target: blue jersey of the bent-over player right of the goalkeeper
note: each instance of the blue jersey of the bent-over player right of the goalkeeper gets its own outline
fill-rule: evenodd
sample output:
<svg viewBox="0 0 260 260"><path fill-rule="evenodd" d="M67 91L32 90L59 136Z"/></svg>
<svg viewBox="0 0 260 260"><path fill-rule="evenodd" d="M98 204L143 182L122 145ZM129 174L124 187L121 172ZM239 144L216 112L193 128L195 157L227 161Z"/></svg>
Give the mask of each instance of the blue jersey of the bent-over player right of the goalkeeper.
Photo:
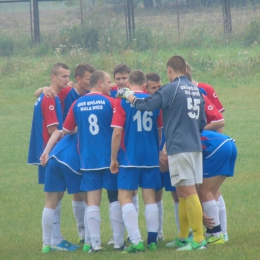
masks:
<svg viewBox="0 0 260 260"><path fill-rule="evenodd" d="M203 160L214 155L223 144L230 141L234 142L234 140L229 136L213 131L203 130L201 133Z"/></svg>

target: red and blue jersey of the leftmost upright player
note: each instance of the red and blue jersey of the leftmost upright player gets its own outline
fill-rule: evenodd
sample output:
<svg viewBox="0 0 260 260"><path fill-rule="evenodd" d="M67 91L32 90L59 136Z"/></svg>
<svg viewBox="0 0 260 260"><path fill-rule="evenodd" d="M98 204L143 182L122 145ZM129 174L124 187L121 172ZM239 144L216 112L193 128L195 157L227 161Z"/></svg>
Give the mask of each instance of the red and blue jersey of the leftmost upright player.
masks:
<svg viewBox="0 0 260 260"><path fill-rule="evenodd" d="M62 129L62 108L59 97L46 98L44 94L36 100L28 152L28 164L40 164L40 156L50 138L48 127L56 125Z"/></svg>

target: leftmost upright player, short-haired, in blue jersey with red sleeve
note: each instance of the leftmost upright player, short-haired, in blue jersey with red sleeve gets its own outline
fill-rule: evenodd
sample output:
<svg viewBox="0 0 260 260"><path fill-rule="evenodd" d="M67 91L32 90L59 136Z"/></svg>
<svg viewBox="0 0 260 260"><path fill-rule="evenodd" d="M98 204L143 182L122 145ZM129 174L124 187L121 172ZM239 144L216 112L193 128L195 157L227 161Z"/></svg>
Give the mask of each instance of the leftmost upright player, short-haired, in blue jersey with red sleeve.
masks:
<svg viewBox="0 0 260 260"><path fill-rule="evenodd" d="M59 93L69 81L69 67L63 63L56 63L51 70L50 89ZM28 163L38 165L38 182L44 184L46 168L40 165L40 156L52 133L62 129L62 107L58 96L47 98L41 94L34 107L33 123L28 153ZM52 233L52 244L63 247L64 239L60 234L59 226L60 205L55 209L55 223ZM57 221L56 221L57 220ZM69 248L69 247L67 247Z"/></svg>

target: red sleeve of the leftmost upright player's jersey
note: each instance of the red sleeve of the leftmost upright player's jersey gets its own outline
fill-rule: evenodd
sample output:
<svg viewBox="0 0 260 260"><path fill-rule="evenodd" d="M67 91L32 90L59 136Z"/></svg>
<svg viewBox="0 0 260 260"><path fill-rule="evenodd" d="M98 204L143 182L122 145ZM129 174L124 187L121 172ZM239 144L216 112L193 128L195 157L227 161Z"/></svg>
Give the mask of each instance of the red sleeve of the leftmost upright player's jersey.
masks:
<svg viewBox="0 0 260 260"><path fill-rule="evenodd" d="M44 125L46 127L59 124L59 120L56 115L56 102L54 98L46 98L45 96L43 97L42 115L44 119Z"/></svg>

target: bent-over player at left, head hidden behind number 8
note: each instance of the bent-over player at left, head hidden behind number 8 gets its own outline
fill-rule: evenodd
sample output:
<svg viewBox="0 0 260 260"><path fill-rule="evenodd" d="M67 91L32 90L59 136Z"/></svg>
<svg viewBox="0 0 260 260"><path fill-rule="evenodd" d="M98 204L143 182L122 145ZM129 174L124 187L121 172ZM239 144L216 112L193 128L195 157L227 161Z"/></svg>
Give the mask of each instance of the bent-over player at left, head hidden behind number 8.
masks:
<svg viewBox="0 0 260 260"><path fill-rule="evenodd" d="M53 250L75 251L77 248L69 245L68 242L63 243L63 247L59 245L55 246L51 243L55 208L59 203L60 193L63 193L67 189L68 194L79 194L82 179L77 151L78 135L66 135L62 137L62 130L55 130L40 157L41 165L45 166L48 161L44 185L46 201L42 213L43 253L49 253ZM53 148L54 145L55 147ZM51 151L52 148L53 150ZM81 193L81 196L84 198L86 194ZM86 236L84 233L84 239L89 240L87 230Z"/></svg>

